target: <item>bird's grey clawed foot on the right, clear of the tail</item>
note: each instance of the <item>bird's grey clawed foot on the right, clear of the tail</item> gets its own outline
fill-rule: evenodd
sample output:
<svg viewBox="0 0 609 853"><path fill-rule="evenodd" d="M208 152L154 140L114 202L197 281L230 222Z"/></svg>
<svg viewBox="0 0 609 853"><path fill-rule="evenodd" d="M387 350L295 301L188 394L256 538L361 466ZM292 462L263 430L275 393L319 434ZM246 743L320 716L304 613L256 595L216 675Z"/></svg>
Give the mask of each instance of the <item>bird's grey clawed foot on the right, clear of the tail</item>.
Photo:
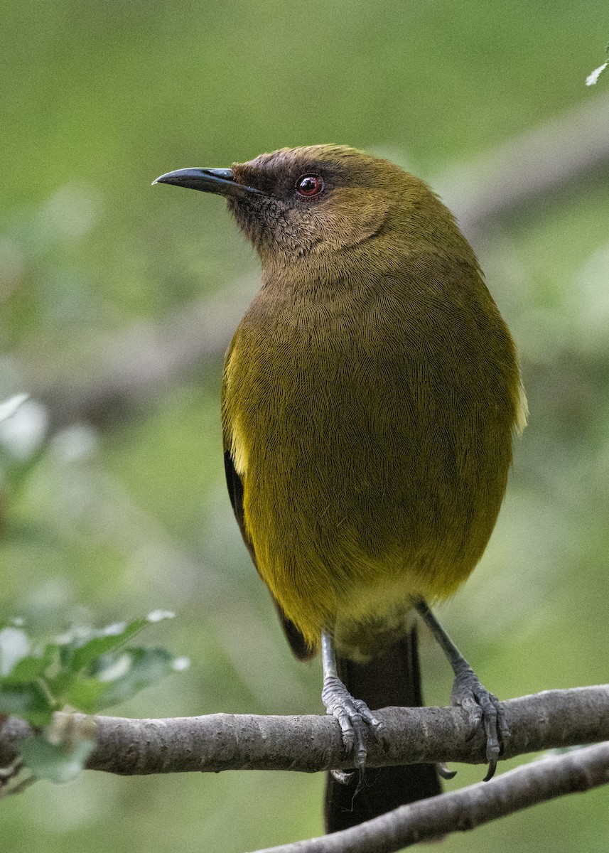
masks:
<svg viewBox="0 0 609 853"><path fill-rule="evenodd" d="M502 745L505 745L509 738L509 728L501 702L484 687L465 660L455 669L452 704L459 705L468 712L472 724L470 736L478 731L480 725L484 726L486 758L489 762L484 781L488 782L495 775Z"/></svg>

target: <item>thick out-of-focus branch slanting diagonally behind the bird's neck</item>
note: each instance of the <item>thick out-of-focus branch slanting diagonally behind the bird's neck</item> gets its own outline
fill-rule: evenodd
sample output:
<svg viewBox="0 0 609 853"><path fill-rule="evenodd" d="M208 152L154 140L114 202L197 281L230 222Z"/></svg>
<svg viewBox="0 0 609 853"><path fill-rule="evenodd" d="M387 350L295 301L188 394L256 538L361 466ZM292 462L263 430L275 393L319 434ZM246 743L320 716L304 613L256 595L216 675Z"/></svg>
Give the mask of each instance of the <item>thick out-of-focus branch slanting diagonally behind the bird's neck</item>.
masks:
<svg viewBox="0 0 609 853"><path fill-rule="evenodd" d="M526 131L490 154L454 168L434 187L467 235L490 220L555 193L609 163L609 96L596 96L559 118ZM75 421L103 426L156 397L177 378L220 358L248 302L235 288L223 302L200 300L157 325L114 336L83 379L26 373L26 390L49 407L51 426ZM52 370L52 366L51 366Z"/></svg>

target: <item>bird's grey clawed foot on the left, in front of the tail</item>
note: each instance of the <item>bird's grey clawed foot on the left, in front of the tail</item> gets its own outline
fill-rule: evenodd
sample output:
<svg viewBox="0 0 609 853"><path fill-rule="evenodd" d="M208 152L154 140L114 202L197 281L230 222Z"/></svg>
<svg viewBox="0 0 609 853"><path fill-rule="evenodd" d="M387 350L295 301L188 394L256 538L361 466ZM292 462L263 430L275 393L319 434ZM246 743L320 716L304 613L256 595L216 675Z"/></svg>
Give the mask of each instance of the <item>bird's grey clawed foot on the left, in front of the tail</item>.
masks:
<svg viewBox="0 0 609 853"><path fill-rule="evenodd" d="M380 734L384 723L377 720L362 699L354 699L338 676L326 676L323 680L322 702L326 711L339 721L340 734L348 755L353 753L355 766L362 777L366 765L367 729L374 735Z"/></svg>

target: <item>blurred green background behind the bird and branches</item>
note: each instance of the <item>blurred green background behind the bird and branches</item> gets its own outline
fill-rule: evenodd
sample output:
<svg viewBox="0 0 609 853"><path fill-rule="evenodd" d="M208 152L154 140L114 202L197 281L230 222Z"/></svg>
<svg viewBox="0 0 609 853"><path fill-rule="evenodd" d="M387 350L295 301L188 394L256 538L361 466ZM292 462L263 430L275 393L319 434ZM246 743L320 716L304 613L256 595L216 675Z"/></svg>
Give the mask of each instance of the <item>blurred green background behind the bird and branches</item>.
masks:
<svg viewBox="0 0 609 853"><path fill-rule="evenodd" d="M319 663L291 659L223 484L222 351L257 261L221 200L150 182L344 142L462 213L489 177L480 157L500 150L501 164L504 143L578 105L609 110L609 79L584 86L609 7L5 0L2 22L0 399L32 402L0 433L0 617L52 631L175 610L148 641L192 668L117 714L320 712ZM558 183L468 231L519 344L531 421L490 547L440 615L503 698L607 680L609 156ZM448 668L428 638L422 653L426 698L445 704ZM240 853L320 833L322 785L85 773L4 800L0 850ZM443 850L607 844L600 789Z"/></svg>

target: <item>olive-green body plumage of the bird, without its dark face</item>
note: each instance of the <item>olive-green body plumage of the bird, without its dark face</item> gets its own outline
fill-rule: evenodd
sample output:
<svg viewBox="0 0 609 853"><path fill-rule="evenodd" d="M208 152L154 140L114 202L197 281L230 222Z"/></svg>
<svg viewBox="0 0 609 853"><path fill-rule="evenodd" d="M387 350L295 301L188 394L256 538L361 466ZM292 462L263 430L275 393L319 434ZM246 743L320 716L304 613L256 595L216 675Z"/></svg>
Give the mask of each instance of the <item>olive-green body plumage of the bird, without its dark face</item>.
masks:
<svg viewBox="0 0 609 853"><path fill-rule="evenodd" d="M344 199L332 266L323 250L278 265L263 244L223 389L258 571L311 647L328 630L354 659L404 633L414 596L450 595L472 571L523 416L471 248L424 183L386 166L390 191ZM380 221L354 242L354 217Z"/></svg>

